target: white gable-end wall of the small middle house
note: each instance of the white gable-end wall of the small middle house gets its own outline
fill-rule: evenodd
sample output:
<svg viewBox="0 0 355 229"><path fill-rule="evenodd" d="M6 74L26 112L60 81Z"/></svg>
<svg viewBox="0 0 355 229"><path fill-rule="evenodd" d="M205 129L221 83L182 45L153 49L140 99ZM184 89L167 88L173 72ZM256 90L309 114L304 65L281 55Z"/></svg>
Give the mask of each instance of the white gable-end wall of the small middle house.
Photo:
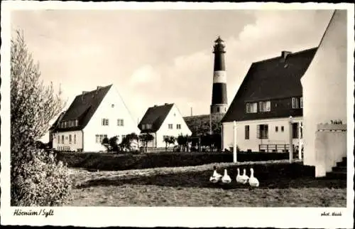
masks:
<svg viewBox="0 0 355 229"><path fill-rule="evenodd" d="M169 129L168 124L173 124L173 129ZM181 129L177 129L177 124L181 124ZM168 135L178 137L180 134L191 135L192 132L189 127L187 127L178 107L173 105L160 129L156 132L156 147L165 147L163 136Z"/></svg>

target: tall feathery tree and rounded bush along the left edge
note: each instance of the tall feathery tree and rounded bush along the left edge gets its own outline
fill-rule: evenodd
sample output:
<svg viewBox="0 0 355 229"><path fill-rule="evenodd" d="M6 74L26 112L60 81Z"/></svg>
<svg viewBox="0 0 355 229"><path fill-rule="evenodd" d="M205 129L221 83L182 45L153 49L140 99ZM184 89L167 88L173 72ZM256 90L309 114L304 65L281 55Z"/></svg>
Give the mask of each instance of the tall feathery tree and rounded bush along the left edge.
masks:
<svg viewBox="0 0 355 229"><path fill-rule="evenodd" d="M60 92L43 85L17 31L11 39L11 206L60 206L70 195L67 166L35 144L64 106Z"/></svg>

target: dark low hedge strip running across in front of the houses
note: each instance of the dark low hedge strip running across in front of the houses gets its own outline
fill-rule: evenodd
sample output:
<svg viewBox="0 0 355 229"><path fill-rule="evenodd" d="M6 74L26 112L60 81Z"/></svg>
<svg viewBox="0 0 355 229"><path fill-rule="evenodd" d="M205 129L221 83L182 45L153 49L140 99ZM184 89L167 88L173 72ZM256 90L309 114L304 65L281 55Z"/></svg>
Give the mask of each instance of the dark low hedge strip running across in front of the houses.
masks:
<svg viewBox="0 0 355 229"><path fill-rule="evenodd" d="M101 171L128 169L149 169L157 167L198 166L202 164L233 161L232 153L224 152L166 152L151 154L98 154L98 153L57 153L57 159L73 168ZM273 161L288 159L288 153L239 152L237 160Z"/></svg>

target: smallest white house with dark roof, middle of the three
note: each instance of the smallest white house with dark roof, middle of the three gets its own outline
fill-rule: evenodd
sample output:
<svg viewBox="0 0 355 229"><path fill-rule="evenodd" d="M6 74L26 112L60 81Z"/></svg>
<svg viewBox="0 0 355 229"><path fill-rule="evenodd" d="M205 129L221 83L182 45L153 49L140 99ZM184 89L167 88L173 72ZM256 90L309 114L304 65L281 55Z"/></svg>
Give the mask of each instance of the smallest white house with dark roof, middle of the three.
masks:
<svg viewBox="0 0 355 229"><path fill-rule="evenodd" d="M155 148L165 147L164 139L167 136L192 134L178 107L168 103L149 107L138 127L141 133L150 133L154 136L154 140L148 143L148 147Z"/></svg>

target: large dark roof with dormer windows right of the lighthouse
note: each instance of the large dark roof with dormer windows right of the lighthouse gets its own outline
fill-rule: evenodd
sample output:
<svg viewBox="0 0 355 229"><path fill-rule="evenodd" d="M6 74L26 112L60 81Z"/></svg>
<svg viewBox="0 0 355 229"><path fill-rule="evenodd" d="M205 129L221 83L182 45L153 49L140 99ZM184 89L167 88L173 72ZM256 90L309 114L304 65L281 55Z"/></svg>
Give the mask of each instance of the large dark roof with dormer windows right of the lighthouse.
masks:
<svg viewBox="0 0 355 229"><path fill-rule="evenodd" d="M260 117L256 117L255 114L246 114L245 102L301 97L300 78L305 74L316 50L317 48L310 48L297 53L289 53L285 59L280 55L252 63L222 122L288 117L290 115L288 112L275 114L271 112L262 114Z"/></svg>

